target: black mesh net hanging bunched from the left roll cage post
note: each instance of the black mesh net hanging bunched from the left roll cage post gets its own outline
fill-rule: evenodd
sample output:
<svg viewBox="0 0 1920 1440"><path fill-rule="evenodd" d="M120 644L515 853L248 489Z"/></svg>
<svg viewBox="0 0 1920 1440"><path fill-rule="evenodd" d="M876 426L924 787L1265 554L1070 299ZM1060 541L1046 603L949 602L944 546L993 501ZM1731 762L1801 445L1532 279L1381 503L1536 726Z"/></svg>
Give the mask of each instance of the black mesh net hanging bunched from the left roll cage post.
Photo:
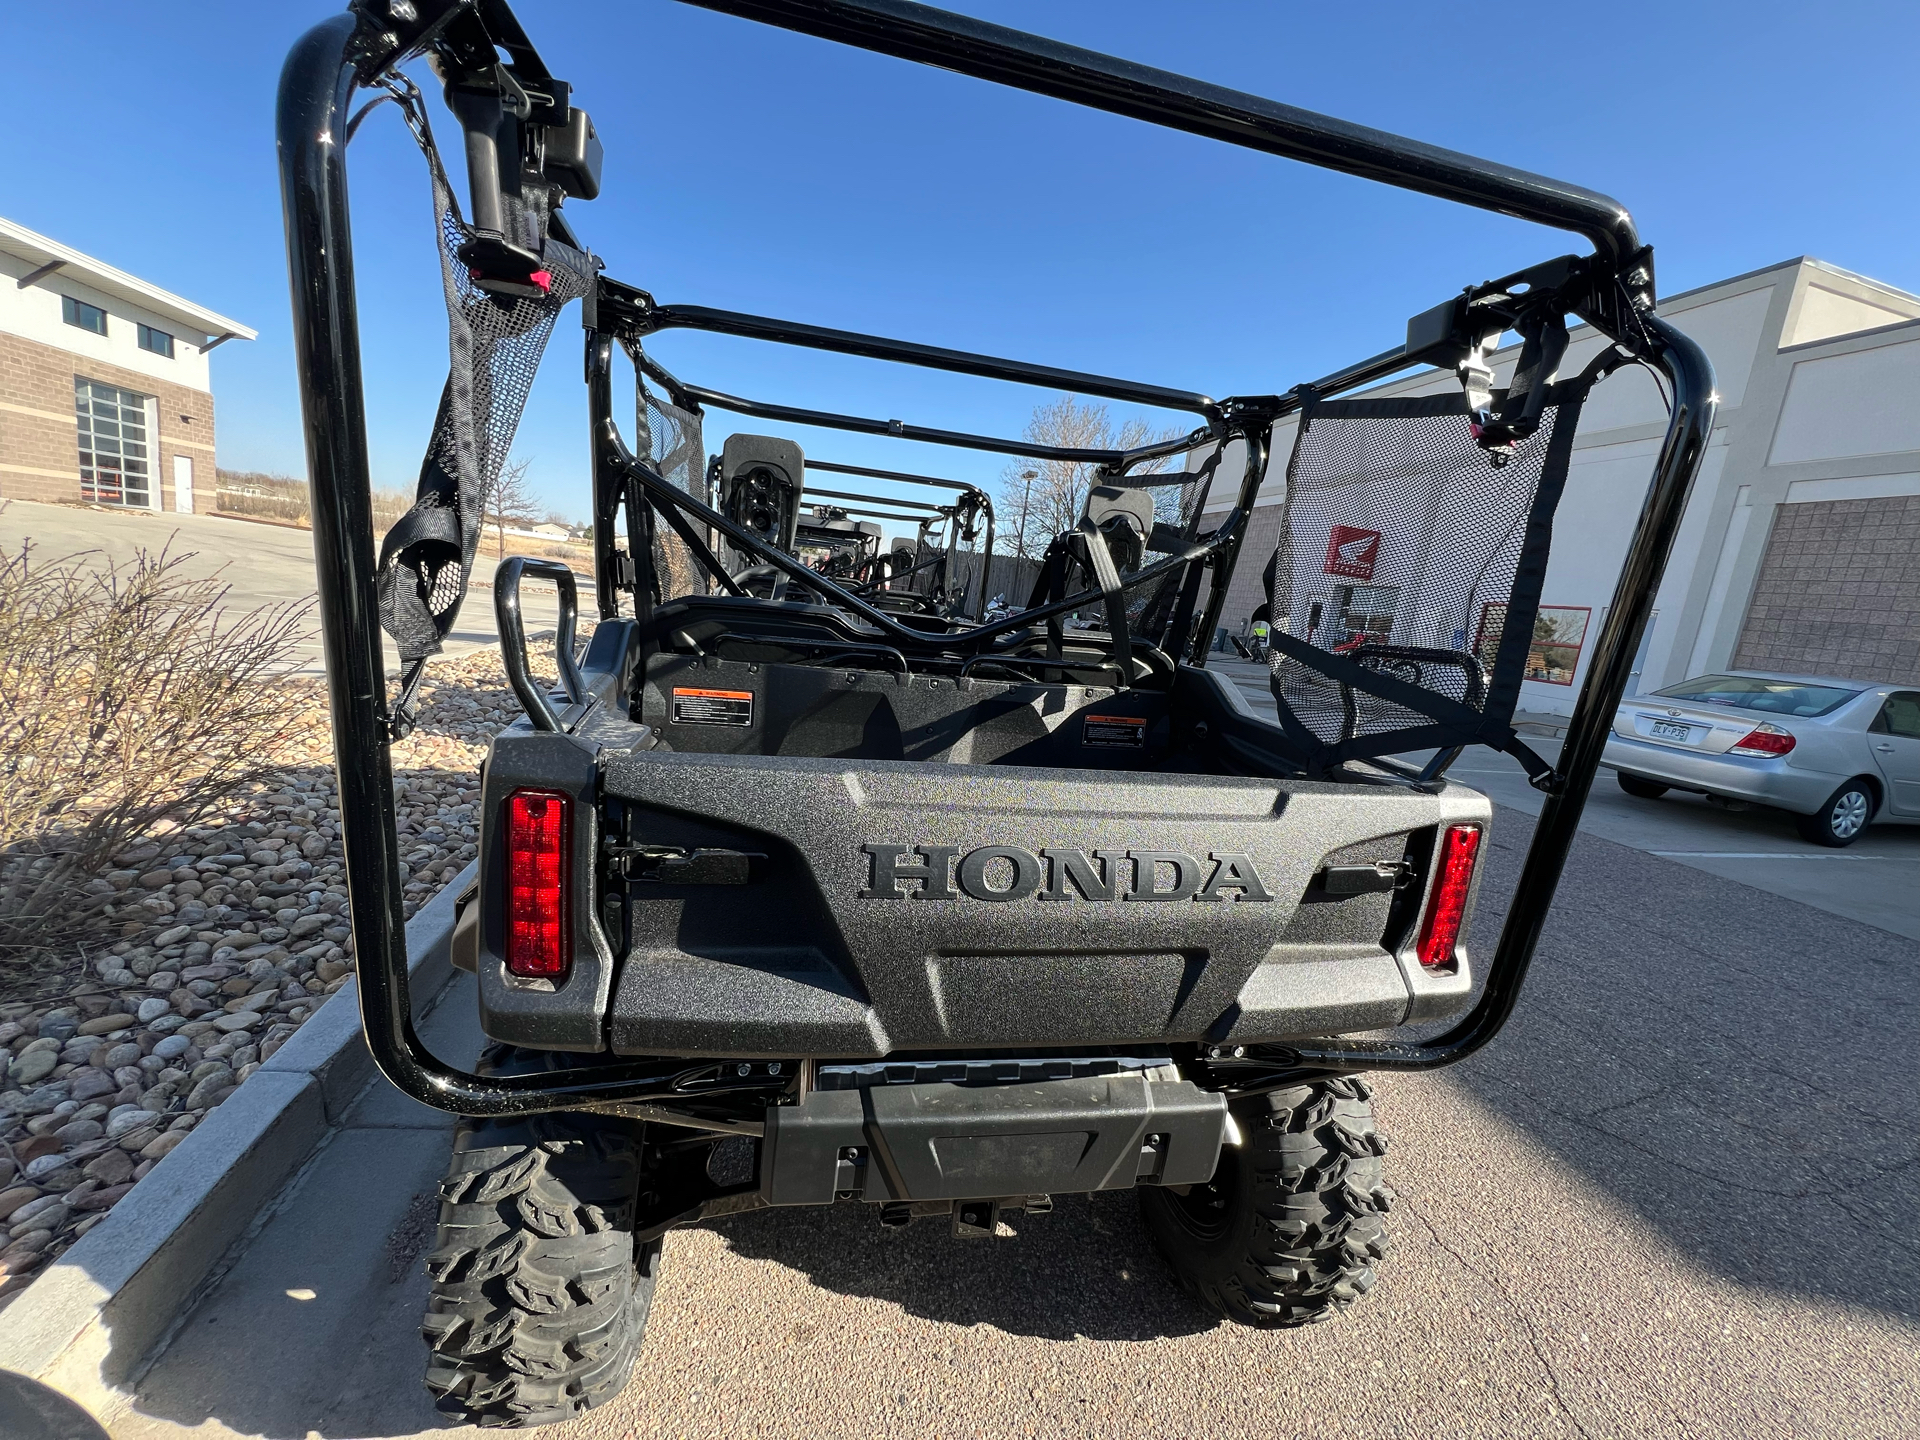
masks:
<svg viewBox="0 0 1920 1440"><path fill-rule="evenodd" d="M457 252L474 238L440 163L417 92L396 98L426 154L440 276L447 298L447 384L420 463L413 509L380 541L380 624L419 684L459 616L493 490L561 307L588 292L593 259L547 232L549 196L505 196L507 238L538 253L551 290L497 296L474 284Z"/></svg>

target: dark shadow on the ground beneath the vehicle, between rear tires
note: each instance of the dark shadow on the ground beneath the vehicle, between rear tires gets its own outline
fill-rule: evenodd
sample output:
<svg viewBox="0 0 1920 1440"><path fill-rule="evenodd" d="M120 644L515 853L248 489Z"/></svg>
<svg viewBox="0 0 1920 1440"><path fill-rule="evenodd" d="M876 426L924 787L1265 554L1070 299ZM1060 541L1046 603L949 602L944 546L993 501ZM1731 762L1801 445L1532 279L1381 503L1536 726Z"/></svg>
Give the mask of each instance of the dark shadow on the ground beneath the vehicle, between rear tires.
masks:
<svg viewBox="0 0 1920 1440"><path fill-rule="evenodd" d="M948 1325L1044 1340L1160 1340L1221 1323L1167 1275L1125 1192L1060 1196L1050 1215L1012 1215L1016 1235L995 1240L954 1240L945 1217L889 1231L876 1206L856 1202L758 1210L710 1229L739 1256Z"/></svg>

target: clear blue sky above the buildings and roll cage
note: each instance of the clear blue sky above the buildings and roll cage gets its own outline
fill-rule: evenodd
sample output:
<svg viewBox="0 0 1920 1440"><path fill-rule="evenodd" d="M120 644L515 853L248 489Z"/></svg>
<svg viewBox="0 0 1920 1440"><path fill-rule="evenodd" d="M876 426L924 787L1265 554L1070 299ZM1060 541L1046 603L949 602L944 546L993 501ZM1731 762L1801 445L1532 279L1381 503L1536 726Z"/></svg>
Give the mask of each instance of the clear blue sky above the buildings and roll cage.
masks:
<svg viewBox="0 0 1920 1440"><path fill-rule="evenodd" d="M1655 244L1667 294L1801 253L1920 290L1910 0L960 4L1605 190ZM227 468L305 472L273 94L288 44L334 10L0 0L13 60L0 213L259 328L213 355ZM612 275L660 300L1219 396L1323 374L1461 284L1584 248L672 0L520 0L518 13L607 142L603 198L568 213ZM461 177L457 131L436 119ZM424 173L392 108L355 140L351 175L374 474L411 488L445 317ZM722 390L996 434L1018 434L1041 397L689 334L655 351ZM518 453L551 505L586 515L578 374L570 311ZM710 447L728 428L760 426L716 417ZM822 459L1000 468L797 434Z"/></svg>

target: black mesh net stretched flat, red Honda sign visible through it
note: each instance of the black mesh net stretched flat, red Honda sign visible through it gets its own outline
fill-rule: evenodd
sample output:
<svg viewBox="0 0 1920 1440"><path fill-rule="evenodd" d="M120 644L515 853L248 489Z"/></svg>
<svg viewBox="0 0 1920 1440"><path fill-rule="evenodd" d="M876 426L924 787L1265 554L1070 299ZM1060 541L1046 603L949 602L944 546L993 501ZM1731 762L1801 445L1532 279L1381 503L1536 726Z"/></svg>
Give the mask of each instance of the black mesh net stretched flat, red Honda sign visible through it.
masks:
<svg viewBox="0 0 1920 1440"><path fill-rule="evenodd" d="M1513 737L1592 374L1496 468L1459 394L1308 401L1273 559L1273 695L1309 766Z"/></svg>

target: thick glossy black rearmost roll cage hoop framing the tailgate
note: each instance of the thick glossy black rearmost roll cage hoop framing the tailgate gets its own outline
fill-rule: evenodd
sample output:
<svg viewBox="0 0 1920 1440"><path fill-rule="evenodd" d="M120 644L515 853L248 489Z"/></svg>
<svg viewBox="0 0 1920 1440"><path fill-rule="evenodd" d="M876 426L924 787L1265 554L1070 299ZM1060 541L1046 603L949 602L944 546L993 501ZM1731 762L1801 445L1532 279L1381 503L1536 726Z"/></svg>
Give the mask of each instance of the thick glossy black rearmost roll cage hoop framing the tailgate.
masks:
<svg viewBox="0 0 1920 1440"><path fill-rule="evenodd" d="M1236 1089L1261 1089L1302 1073L1432 1069L1484 1046L1513 1012L1526 979L1718 403L1705 353L1651 313L1651 257L1640 246L1626 209L1605 196L1559 180L906 0L685 2L1459 200L1574 230L1592 240L1596 248L1596 255L1588 261L1592 284L1584 300L1569 301L1569 309L1594 323L1634 359L1665 374L1672 390L1672 411L1613 607L1594 645L1588 676L1574 705L1557 785L1534 828L1521 887L1488 964L1480 1000L1465 1020L1428 1041L1265 1046L1242 1062L1219 1056L1210 1060ZM732 1081L712 1064L655 1062L551 1075L476 1075L447 1066L428 1052L415 1031L388 756L390 714L374 586L344 136L355 88L363 83L372 84L390 65L430 44L449 50L465 46L476 56L492 54L492 46L499 44L509 50L522 73L543 75L545 69L513 21L505 0L472 0L472 4L417 0L405 8L405 19L394 15L396 8L382 10L386 13L380 17L367 17L365 12L336 15L307 31L288 54L276 102L294 349L313 488L321 636L334 726L349 910L361 960L357 983L367 1046L380 1071L401 1092L470 1116L612 1104L672 1106L697 1104L716 1094L774 1094L783 1089L780 1083ZM589 397L599 405L611 363L611 344L605 334L591 338L588 359ZM1421 359L1421 351L1409 338L1407 346L1352 365L1315 390L1327 394L1367 384L1405 369L1415 359ZM1269 397L1265 422L1271 424L1273 419L1298 409L1298 394L1292 394L1292 405L1286 403L1288 396ZM1223 401L1221 407L1231 420L1233 401ZM612 511L626 505L628 536L637 551L651 538L651 505L639 503L639 492L653 493L655 486L666 490L670 486L659 478L651 478L649 484L649 476L632 465L630 457L620 467L607 465L605 461L616 455L614 447L624 451L618 432L609 436L607 428L595 426L595 526L599 530L611 524ZM1031 453L1031 449L1014 447L1010 453ZM1100 459L1110 465L1125 463L1123 455ZM1254 470L1250 465L1248 474ZM1169 564L1219 549L1223 534L1236 545L1238 526L1252 509L1254 490L1258 480L1252 490L1242 482L1238 503L1229 511L1221 530ZM1210 614L1217 612L1227 574L1225 568L1215 574ZM601 580L603 601L609 580ZM1066 609L1091 603L1094 597L1096 591L1089 591ZM636 603L645 601L636 595ZM862 612L868 607L852 601L847 609ZM1027 616L1033 618L1039 616ZM995 630L981 628L970 634L981 637Z"/></svg>

